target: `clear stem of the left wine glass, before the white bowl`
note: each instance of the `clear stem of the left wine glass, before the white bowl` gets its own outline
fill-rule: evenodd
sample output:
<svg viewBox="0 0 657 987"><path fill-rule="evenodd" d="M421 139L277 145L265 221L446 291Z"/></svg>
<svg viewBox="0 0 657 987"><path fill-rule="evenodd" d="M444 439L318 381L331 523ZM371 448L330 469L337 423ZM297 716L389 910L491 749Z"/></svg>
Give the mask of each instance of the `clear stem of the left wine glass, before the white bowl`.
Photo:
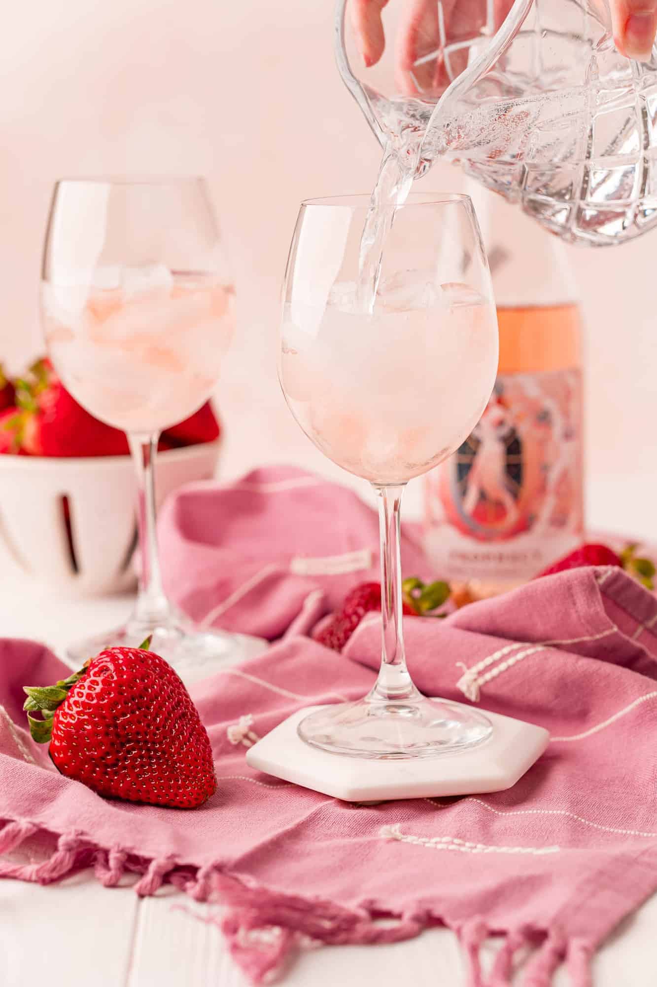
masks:
<svg viewBox="0 0 657 987"><path fill-rule="evenodd" d="M170 615L169 600L162 588L155 514L155 457L159 432L152 435L128 435L130 452L137 474L137 505L141 576L132 620L156 627Z"/></svg>

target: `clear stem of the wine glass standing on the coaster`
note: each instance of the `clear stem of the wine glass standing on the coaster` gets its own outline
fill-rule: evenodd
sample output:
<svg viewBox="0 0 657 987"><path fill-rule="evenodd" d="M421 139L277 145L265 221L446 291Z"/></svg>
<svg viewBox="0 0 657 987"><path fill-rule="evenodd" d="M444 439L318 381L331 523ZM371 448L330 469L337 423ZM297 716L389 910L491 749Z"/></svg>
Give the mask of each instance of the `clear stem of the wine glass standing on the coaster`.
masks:
<svg viewBox="0 0 657 987"><path fill-rule="evenodd" d="M381 618L383 638L381 669L368 702L391 702L417 699L403 650L401 627L401 556L400 556L400 487L376 487L379 497L381 535Z"/></svg>

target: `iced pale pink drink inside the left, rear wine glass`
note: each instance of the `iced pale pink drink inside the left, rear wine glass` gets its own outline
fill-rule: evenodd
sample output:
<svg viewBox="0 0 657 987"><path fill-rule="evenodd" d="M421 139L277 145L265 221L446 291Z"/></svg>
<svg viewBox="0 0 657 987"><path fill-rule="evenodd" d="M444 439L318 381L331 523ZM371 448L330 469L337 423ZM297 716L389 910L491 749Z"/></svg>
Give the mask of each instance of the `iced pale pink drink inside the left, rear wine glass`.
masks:
<svg viewBox="0 0 657 987"><path fill-rule="evenodd" d="M126 291L42 285L45 339L76 400L116 428L151 433L187 418L214 389L234 328L234 290L173 275Z"/></svg>

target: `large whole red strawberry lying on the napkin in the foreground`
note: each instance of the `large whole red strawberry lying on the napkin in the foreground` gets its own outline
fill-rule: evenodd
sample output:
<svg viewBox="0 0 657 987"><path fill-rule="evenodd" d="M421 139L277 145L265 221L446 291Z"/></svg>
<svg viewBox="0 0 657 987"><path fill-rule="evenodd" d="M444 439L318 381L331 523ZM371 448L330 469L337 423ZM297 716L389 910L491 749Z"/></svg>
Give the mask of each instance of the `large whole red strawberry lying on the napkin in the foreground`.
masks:
<svg viewBox="0 0 657 987"><path fill-rule="evenodd" d="M26 687L24 709L62 775L101 796L193 808L217 788L210 740L183 682L149 644L109 647L54 686Z"/></svg>

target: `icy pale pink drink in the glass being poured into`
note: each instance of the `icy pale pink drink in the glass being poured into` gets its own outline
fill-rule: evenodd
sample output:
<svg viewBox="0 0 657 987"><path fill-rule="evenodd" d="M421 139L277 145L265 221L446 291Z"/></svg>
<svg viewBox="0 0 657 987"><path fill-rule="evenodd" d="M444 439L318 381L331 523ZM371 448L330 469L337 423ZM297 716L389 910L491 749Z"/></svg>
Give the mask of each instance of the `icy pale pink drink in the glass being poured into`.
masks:
<svg viewBox="0 0 657 987"><path fill-rule="evenodd" d="M288 304L283 316L279 374L295 418L329 459L375 484L454 452L497 370L495 310L480 296L464 286L424 307L398 304L372 315Z"/></svg>

